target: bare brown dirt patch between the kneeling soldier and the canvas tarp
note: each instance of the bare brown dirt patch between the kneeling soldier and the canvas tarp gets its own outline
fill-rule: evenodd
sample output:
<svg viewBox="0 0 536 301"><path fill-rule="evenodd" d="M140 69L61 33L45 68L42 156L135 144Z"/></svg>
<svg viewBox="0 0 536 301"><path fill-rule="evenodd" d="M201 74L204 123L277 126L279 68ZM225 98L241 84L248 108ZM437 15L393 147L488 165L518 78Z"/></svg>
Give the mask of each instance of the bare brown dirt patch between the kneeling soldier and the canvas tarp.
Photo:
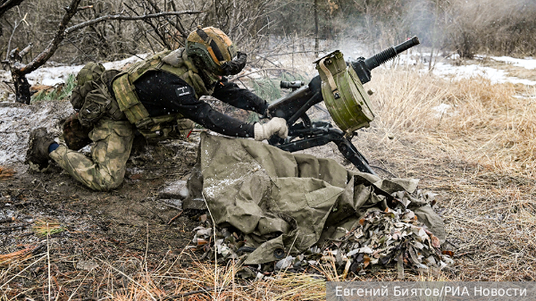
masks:
<svg viewBox="0 0 536 301"><path fill-rule="evenodd" d="M172 200L159 197L158 192L166 181L188 175L190 165L195 163L195 153L184 152L180 149L184 147L178 145L149 147L154 148L150 160L145 152L133 154L123 184L109 192L83 187L55 164L45 172L16 173L12 179L0 182L2 211L20 222L45 217L57 220L67 230L60 237L76 238L90 231L95 238L125 249L145 250L148 230L154 238L149 242L153 252L180 249L185 245L181 233L190 223L180 217L167 226L180 210ZM171 152L180 153L180 158L167 154ZM136 168L133 168L134 160L138 162ZM21 236L27 234L26 230L8 233L2 241L2 253L24 245L27 241ZM31 241L29 238L28 242Z"/></svg>

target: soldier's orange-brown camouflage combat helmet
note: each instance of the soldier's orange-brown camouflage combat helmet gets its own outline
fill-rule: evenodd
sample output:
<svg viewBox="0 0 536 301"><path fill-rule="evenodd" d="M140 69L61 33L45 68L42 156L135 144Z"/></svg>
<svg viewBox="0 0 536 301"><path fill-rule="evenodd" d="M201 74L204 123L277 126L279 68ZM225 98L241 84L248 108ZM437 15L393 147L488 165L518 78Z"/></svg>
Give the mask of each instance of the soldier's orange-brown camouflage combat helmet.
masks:
<svg viewBox="0 0 536 301"><path fill-rule="evenodd" d="M246 65L247 55L237 52L236 46L222 30L197 26L186 41L186 52L197 64L215 75L234 75Z"/></svg>

